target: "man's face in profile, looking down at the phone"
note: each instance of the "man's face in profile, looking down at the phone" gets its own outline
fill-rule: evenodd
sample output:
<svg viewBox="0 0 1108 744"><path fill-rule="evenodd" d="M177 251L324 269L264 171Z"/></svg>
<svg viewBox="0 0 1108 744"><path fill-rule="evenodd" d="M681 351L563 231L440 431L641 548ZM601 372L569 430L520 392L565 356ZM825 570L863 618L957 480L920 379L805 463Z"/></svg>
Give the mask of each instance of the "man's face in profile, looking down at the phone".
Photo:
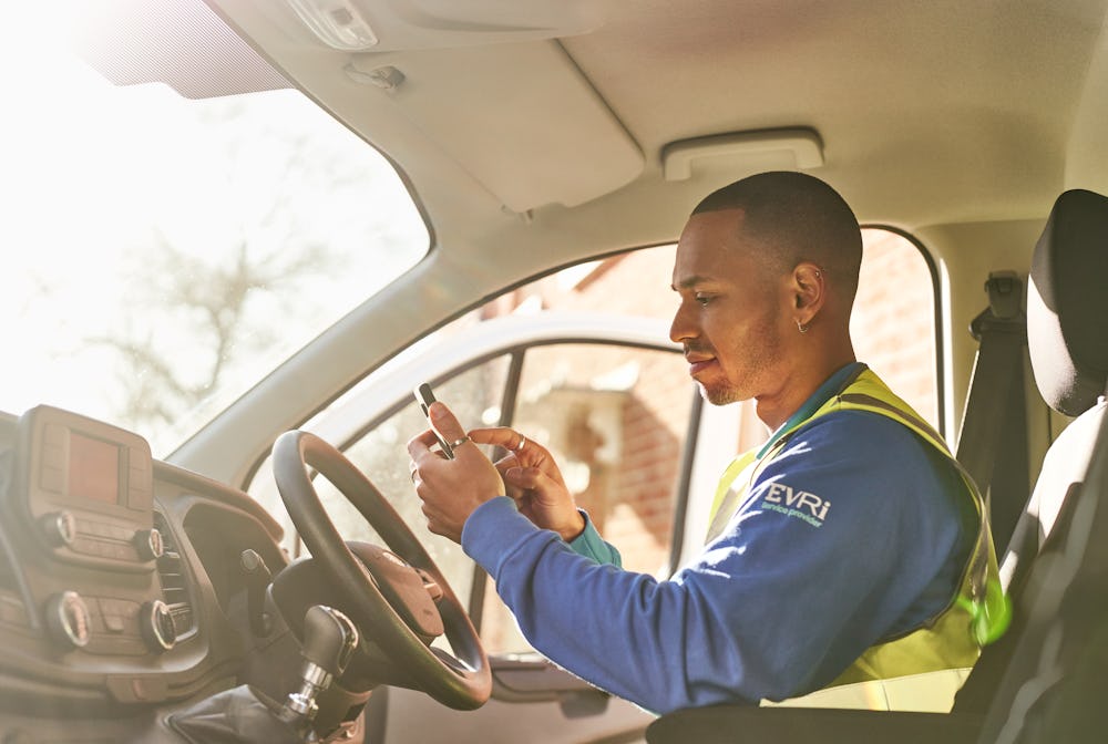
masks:
<svg viewBox="0 0 1108 744"><path fill-rule="evenodd" d="M771 275L763 250L745 237L741 209L694 215L677 244L669 337L716 405L773 395L789 376L789 277Z"/></svg>

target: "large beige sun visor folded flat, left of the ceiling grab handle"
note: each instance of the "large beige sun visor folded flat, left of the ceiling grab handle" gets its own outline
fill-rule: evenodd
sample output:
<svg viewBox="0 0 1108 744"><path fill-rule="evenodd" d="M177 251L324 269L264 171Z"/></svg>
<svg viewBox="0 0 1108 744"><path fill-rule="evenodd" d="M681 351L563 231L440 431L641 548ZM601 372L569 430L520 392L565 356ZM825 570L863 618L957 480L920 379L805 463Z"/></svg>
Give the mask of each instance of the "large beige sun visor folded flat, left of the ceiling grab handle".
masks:
<svg viewBox="0 0 1108 744"><path fill-rule="evenodd" d="M573 207L643 172L642 151L556 42L360 54L351 73L388 78L381 95L513 211Z"/></svg>

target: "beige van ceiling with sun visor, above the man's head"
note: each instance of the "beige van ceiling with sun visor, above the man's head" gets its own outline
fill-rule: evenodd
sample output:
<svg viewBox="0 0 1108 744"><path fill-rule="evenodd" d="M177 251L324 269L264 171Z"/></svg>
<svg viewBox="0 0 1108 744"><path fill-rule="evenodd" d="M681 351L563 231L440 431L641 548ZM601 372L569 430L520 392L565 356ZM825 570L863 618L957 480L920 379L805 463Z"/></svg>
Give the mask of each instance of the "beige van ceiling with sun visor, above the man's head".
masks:
<svg viewBox="0 0 1108 744"><path fill-rule="evenodd" d="M1077 118L1108 105L1106 0L546 0L510 3L530 16L499 25L495 0L355 0L380 39L361 52L329 46L277 0L209 4L392 157L455 236L495 232L505 213L564 224L576 207L593 223L626 202L657 206L646 232L671 239L694 195L790 165L721 154L673 183L667 145L779 128L818 137L813 173L863 221L906 229L1037 218L1067 186L1108 186L1066 182L1067 153L1106 146ZM245 69L242 44L225 49L223 68L176 72L147 53L135 78L222 94L220 69Z"/></svg>

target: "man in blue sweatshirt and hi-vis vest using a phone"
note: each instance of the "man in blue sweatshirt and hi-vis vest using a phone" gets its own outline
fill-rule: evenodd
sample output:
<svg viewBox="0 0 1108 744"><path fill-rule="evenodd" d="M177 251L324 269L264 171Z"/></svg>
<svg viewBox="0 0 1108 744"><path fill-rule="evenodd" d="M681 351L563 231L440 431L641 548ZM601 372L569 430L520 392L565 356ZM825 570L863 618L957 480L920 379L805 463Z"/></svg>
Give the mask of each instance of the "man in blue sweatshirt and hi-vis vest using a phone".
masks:
<svg viewBox="0 0 1108 744"><path fill-rule="evenodd" d="M752 399L770 436L724 473L704 548L671 578L619 568L544 447L466 434L442 403L455 458L431 431L409 443L430 529L489 571L537 650L655 712L922 673L955 690L951 670L999 630L996 560L972 480L854 356L861 256L850 207L799 173L730 184L689 217L670 338L710 403Z"/></svg>

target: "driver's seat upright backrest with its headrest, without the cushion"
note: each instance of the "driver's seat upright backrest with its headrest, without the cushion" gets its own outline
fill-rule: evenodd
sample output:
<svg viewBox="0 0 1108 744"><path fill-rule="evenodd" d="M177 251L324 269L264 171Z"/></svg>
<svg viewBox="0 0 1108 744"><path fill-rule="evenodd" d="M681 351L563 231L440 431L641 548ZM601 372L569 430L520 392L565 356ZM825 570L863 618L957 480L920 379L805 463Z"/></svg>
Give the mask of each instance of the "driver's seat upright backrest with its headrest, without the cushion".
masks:
<svg viewBox="0 0 1108 744"><path fill-rule="evenodd" d="M1050 693L1066 688L1067 664L1081 668L1074 654L1091 652L1106 641L1108 612L1100 606L1106 577L1099 557L1088 550L1090 537L1094 544L1104 541L1104 535L1090 530L1108 524L1106 509L1097 509L1098 500L1108 496L1102 473L1108 461L1108 309L1101 299L1106 276L1108 198L1081 189L1066 192L1033 258L1027 337L1043 399L1076 417L1050 446L1002 565L1002 579L1019 602L1015 632L997 653L983 655L955 705L981 707L987 699L981 741L1016 735L1034 720L1033 702L1049 701L1036 709L1039 715L1056 710L1058 695ZM1095 473L1098 459L1100 472ZM1044 664L1049 666L1045 676ZM1069 722L1077 721L1077 713L1095 716L1101 707L1067 709ZM1040 741L1035 738L1039 735L1028 732L1027 741ZM1056 728L1048 736L1104 741L1104 728L1070 727L1064 735Z"/></svg>

